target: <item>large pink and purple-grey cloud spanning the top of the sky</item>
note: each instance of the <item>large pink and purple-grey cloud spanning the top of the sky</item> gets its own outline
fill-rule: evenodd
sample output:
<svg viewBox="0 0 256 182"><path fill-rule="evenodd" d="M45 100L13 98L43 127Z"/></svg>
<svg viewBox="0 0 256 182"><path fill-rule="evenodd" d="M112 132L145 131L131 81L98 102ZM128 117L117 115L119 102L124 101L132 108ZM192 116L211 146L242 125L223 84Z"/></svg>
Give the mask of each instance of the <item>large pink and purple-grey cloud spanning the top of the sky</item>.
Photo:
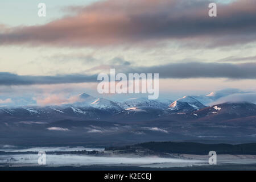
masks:
<svg viewBox="0 0 256 182"><path fill-rule="evenodd" d="M218 3L217 17L208 16L212 1L108 0L85 7L76 15L37 26L2 26L0 44L30 46L112 46L184 40L193 46L232 46L255 42L256 2ZM183 43L184 43L183 42Z"/></svg>

